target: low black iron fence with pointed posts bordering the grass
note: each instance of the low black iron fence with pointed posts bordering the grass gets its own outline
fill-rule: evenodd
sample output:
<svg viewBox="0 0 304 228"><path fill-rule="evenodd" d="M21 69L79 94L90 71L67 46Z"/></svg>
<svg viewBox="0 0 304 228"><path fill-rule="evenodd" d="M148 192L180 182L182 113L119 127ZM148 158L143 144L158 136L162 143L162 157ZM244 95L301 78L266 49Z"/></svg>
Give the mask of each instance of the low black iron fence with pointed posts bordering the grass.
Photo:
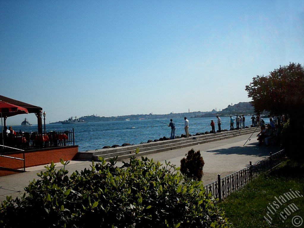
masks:
<svg viewBox="0 0 304 228"><path fill-rule="evenodd" d="M275 154L271 154L269 157L264 158L240 171L230 174L224 178L218 175L218 180L206 185L206 192L211 194L219 200L230 195L232 192L244 187L250 180L256 178L259 174L264 173L277 165L281 164L285 157L284 150L280 150Z"/></svg>

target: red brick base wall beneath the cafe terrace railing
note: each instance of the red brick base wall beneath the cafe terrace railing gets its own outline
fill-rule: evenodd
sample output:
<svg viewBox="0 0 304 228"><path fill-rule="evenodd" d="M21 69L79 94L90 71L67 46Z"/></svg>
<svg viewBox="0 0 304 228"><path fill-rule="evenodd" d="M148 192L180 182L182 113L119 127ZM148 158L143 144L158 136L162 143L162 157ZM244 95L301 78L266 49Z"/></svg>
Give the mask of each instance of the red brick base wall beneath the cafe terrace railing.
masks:
<svg viewBox="0 0 304 228"><path fill-rule="evenodd" d="M78 146L56 147L41 150L29 150L25 152L25 167L37 166L60 162L60 158L64 161L70 161L76 158L78 153ZM23 153L16 152L12 154L5 154L10 157L23 158ZM20 169L23 168L23 161L0 157L0 166L5 168ZM5 174L8 173L8 174ZM0 176L11 174L11 171L0 169Z"/></svg>

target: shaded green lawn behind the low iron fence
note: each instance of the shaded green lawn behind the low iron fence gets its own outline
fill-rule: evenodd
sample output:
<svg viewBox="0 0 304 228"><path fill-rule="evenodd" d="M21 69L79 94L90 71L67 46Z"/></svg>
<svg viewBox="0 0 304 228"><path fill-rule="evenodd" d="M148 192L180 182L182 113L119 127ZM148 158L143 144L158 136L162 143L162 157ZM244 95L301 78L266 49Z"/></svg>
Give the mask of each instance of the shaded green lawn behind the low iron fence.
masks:
<svg viewBox="0 0 304 228"><path fill-rule="evenodd" d="M299 195L302 197L294 197L294 199L284 202L282 197L288 199L284 193L291 192L290 189L293 192L299 191ZM275 197L281 201L282 205ZM288 207L291 204L298 209L292 210L291 206ZM243 189L234 192L218 205L226 212L233 227L295 227L292 224L294 216L302 217L303 224L299 227L304 227L304 166L289 160L285 161L271 172L261 174L257 179L249 182ZM288 211L290 215L287 214ZM272 220L267 216L267 212ZM280 212L282 212L281 215ZM299 218L293 221L294 224L300 222Z"/></svg>

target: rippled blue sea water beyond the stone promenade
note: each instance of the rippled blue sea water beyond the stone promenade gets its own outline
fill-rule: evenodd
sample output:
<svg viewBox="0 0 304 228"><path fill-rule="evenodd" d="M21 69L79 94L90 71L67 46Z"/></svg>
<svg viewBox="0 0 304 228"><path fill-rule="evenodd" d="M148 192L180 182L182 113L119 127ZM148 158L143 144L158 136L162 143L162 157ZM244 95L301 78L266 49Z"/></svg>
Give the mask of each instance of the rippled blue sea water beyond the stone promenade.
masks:
<svg viewBox="0 0 304 228"><path fill-rule="evenodd" d="M235 116L233 116L235 119ZM251 116L245 116L245 126L251 125ZM218 130L217 118L190 118L189 134L195 135L211 130L210 122L213 119L215 130ZM159 121L159 122L157 122ZM264 119L269 123L269 119ZM163 122L163 123L160 123ZM185 134L184 118L173 119L175 136ZM221 129L230 129L230 117L221 117ZM78 151L101 149L104 146L122 145L123 143L139 144L148 140L155 140L164 136L170 138L170 119L143 119L130 121L95 122L81 124L47 124L46 131L65 131L74 128L75 145ZM234 123L236 127L236 123ZM13 126L15 131L37 131L37 125Z"/></svg>

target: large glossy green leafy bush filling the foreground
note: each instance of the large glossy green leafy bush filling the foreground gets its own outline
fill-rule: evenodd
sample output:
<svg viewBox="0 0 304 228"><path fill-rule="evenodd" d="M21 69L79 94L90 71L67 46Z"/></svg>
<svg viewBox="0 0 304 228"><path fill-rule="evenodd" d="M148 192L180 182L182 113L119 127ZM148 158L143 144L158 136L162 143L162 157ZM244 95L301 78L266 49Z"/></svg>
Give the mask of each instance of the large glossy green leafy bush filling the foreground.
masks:
<svg viewBox="0 0 304 228"><path fill-rule="evenodd" d="M70 177L54 164L46 168L25 188L27 196L2 202L0 226L230 227L202 182L169 163L131 158L119 168L115 159L101 159Z"/></svg>

